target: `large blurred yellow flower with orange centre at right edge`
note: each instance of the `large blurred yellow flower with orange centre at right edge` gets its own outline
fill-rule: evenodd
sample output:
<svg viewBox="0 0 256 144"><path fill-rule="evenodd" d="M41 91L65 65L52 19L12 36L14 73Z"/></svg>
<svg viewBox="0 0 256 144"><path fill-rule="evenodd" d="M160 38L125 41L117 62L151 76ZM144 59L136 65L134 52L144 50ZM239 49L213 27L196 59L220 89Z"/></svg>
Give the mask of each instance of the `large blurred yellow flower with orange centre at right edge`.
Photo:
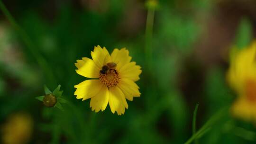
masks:
<svg viewBox="0 0 256 144"><path fill-rule="evenodd" d="M256 122L256 42L233 51L227 76L230 86L238 94L231 108L232 114Z"/></svg>

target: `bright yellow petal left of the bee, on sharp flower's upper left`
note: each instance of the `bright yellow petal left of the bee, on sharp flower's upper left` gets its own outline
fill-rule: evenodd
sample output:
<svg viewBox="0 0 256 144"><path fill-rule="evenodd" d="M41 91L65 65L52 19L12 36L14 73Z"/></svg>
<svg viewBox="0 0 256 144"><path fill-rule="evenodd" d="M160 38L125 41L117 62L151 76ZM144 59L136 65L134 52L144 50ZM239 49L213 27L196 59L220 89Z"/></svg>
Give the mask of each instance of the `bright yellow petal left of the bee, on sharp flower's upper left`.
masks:
<svg viewBox="0 0 256 144"><path fill-rule="evenodd" d="M78 68L76 70L78 74L87 78L99 78L100 69L91 59L83 57L82 60L77 60L75 66Z"/></svg>

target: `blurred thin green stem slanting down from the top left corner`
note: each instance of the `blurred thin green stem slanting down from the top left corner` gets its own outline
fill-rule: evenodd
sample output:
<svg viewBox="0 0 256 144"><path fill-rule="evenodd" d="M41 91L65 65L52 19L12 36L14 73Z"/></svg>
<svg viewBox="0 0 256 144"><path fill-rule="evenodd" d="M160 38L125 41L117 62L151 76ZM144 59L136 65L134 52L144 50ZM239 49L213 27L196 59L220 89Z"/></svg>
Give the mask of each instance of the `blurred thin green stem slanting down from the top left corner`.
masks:
<svg viewBox="0 0 256 144"><path fill-rule="evenodd" d="M27 48L31 52L31 54L35 57L37 63L39 66L43 69L43 71L46 73L47 77L50 81L55 80L55 77L53 75L52 70L47 64L46 59L37 51L36 46L33 44L30 37L27 35L27 33L18 25L18 23L15 21L13 16L10 14L9 10L6 8L2 0L0 0L0 9L2 10L3 14L6 16L6 18L9 20L12 27L15 28L15 30L18 32L18 34L21 36L22 40L24 41L25 45L27 45Z"/></svg>

